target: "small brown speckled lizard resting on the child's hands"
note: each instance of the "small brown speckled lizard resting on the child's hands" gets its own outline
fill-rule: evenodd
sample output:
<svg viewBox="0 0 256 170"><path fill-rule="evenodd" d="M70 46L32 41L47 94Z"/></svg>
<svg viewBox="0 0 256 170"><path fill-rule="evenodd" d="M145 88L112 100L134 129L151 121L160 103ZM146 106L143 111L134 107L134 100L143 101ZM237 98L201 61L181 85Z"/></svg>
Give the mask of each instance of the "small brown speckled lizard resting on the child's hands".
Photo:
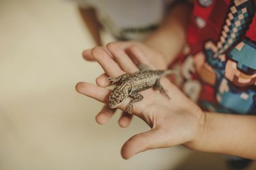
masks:
<svg viewBox="0 0 256 170"><path fill-rule="evenodd" d="M109 108L117 108L124 103L125 99L132 97L133 99L127 104L126 108L127 113L132 114L133 104L143 99L143 96L138 92L151 87L159 90L170 100L166 90L160 84L160 78L167 74L173 74L175 71L170 69L152 70L145 64L140 64L138 68L140 71L132 74L122 74L117 78L108 77L111 84L118 83L109 95Z"/></svg>

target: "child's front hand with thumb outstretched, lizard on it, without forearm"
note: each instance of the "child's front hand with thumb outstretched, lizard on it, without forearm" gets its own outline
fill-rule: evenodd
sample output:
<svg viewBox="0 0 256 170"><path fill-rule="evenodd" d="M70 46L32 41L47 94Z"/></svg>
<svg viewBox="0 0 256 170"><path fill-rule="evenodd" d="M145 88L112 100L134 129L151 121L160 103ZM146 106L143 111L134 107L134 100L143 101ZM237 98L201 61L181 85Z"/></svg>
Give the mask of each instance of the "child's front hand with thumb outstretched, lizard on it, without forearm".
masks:
<svg viewBox="0 0 256 170"><path fill-rule="evenodd" d="M107 52L102 47L93 48L91 56L99 62L108 76L117 77L120 74L138 71L136 65L121 48L112 45L108 50ZM130 50L136 60L153 67L139 48L132 46ZM77 84L76 90L102 103L108 103L111 90L104 88L109 85L106 75L99 76L97 84L99 87L80 82ZM134 103L133 115L143 119L152 129L132 136L124 144L121 152L124 159L129 159L136 153L153 148L180 144L193 148L195 141L200 138L198 136L200 136L201 127L204 125L204 113L166 78L161 79L161 85L172 99L169 101L163 94L154 89L140 92L144 99ZM130 99L127 99L119 108L125 111L129 101ZM106 105L97 115L96 120L100 124L104 124L114 113L115 110ZM131 121L131 116L124 114L119 121L125 126Z"/></svg>

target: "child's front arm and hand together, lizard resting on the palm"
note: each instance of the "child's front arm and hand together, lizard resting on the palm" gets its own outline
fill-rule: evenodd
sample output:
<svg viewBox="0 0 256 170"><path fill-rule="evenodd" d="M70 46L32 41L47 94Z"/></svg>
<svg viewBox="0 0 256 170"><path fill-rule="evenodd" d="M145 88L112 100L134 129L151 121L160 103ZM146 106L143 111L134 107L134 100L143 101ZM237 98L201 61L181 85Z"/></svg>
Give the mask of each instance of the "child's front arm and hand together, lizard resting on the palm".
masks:
<svg viewBox="0 0 256 170"><path fill-rule="evenodd" d="M143 60L143 63L150 65L147 57L138 48L132 47L131 51L135 57ZM138 71L129 56L118 46L111 46L109 53L104 48L94 48L92 55L108 76L117 77ZM110 55L113 55L113 59ZM111 90L104 88L109 85L106 76L100 76L97 81L99 86L86 82L78 83L76 90L102 103L108 103ZM256 159L255 116L204 112L170 81L163 79L161 84L172 99L168 100L152 89L140 92L144 99L134 104L133 115L143 119L152 129L132 136L124 144L122 156L125 159L145 150L175 145L184 145L203 152ZM125 111L128 103L129 99L118 108ZM115 110L107 106L97 115L97 121L100 120L99 122L104 124L114 113ZM124 118L122 122L127 123L127 118Z"/></svg>

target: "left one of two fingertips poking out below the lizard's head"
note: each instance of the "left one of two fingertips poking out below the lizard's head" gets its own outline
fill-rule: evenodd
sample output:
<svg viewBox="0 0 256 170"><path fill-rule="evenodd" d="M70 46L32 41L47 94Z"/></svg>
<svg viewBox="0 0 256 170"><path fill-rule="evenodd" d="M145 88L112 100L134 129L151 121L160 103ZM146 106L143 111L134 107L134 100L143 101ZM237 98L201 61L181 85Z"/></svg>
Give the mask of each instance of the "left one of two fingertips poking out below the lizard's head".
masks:
<svg viewBox="0 0 256 170"><path fill-rule="evenodd" d="M111 109L108 107L108 104L105 104L99 114L95 117L95 120L98 124L106 124L110 118L114 115L116 109Z"/></svg>

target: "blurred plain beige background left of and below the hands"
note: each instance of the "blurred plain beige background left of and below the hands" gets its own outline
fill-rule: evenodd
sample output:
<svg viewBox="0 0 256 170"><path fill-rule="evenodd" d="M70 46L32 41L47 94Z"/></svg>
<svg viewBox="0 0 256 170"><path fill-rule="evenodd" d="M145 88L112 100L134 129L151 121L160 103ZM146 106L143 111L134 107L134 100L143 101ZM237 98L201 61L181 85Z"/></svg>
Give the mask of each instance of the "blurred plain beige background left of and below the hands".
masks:
<svg viewBox="0 0 256 170"><path fill-rule="evenodd" d="M123 143L148 127L134 118L122 129L119 114L96 124L102 104L74 88L102 73L81 57L93 46L72 1L0 0L1 170L225 169L219 155L181 146L122 159Z"/></svg>

